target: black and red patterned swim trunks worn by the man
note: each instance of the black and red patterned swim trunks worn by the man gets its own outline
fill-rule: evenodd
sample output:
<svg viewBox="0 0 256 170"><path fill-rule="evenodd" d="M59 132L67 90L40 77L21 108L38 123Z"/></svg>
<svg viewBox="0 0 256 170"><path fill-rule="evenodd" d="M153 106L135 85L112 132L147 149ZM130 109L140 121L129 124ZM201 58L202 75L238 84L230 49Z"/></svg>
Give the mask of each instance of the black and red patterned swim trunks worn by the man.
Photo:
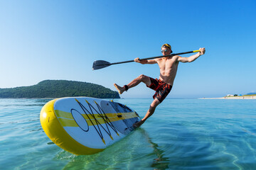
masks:
<svg viewBox="0 0 256 170"><path fill-rule="evenodd" d="M170 84L166 84L164 81L161 81L159 79L153 79L151 77L149 78L151 84L147 87L156 91L153 98L157 98L157 100L159 100L161 103L162 101L164 101L164 98L166 98L166 96L170 93L172 86Z"/></svg>

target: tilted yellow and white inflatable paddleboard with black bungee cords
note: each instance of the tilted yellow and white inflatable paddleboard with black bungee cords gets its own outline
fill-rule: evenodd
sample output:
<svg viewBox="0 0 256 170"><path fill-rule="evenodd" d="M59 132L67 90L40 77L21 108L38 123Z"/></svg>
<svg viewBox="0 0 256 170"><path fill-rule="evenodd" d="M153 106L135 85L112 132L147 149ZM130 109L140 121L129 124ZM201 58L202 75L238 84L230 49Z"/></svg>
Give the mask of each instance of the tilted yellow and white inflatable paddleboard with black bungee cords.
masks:
<svg viewBox="0 0 256 170"><path fill-rule="evenodd" d="M131 108L99 98L70 97L49 101L40 121L56 145L73 154L95 154L122 139L140 120Z"/></svg>

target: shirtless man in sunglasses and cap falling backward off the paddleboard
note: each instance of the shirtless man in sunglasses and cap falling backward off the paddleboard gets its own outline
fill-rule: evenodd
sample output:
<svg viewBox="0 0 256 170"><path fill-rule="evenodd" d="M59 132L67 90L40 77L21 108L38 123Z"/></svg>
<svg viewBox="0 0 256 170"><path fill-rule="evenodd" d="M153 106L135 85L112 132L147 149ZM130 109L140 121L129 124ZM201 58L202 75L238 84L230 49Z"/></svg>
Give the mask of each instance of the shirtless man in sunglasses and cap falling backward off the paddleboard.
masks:
<svg viewBox="0 0 256 170"><path fill-rule="evenodd" d="M156 93L153 96L154 101L151 103L149 110L147 111L146 115L144 116L144 118L142 118L141 121L134 124L134 128L138 128L140 125L142 125L146 121L146 119L148 119L154 113L156 106L158 106L162 101L164 101L164 98L166 98L166 96L170 93L171 88L174 84L174 79L176 77L178 63L193 62L199 56L204 55L206 52L205 48L200 48L199 50L200 52L198 52L196 55L192 55L191 57L181 57L175 55L172 57L162 57L153 60L141 61L139 60L139 58L134 59L134 62L138 62L140 64L158 64L160 69L159 79L152 79L151 77L140 75L139 77L131 81L129 84L124 85L123 87L114 84L119 94L122 94L124 91L127 91L128 89L137 86L141 82L146 84L146 86L150 89L156 91ZM171 55L171 45L162 45L161 52L163 55Z"/></svg>

